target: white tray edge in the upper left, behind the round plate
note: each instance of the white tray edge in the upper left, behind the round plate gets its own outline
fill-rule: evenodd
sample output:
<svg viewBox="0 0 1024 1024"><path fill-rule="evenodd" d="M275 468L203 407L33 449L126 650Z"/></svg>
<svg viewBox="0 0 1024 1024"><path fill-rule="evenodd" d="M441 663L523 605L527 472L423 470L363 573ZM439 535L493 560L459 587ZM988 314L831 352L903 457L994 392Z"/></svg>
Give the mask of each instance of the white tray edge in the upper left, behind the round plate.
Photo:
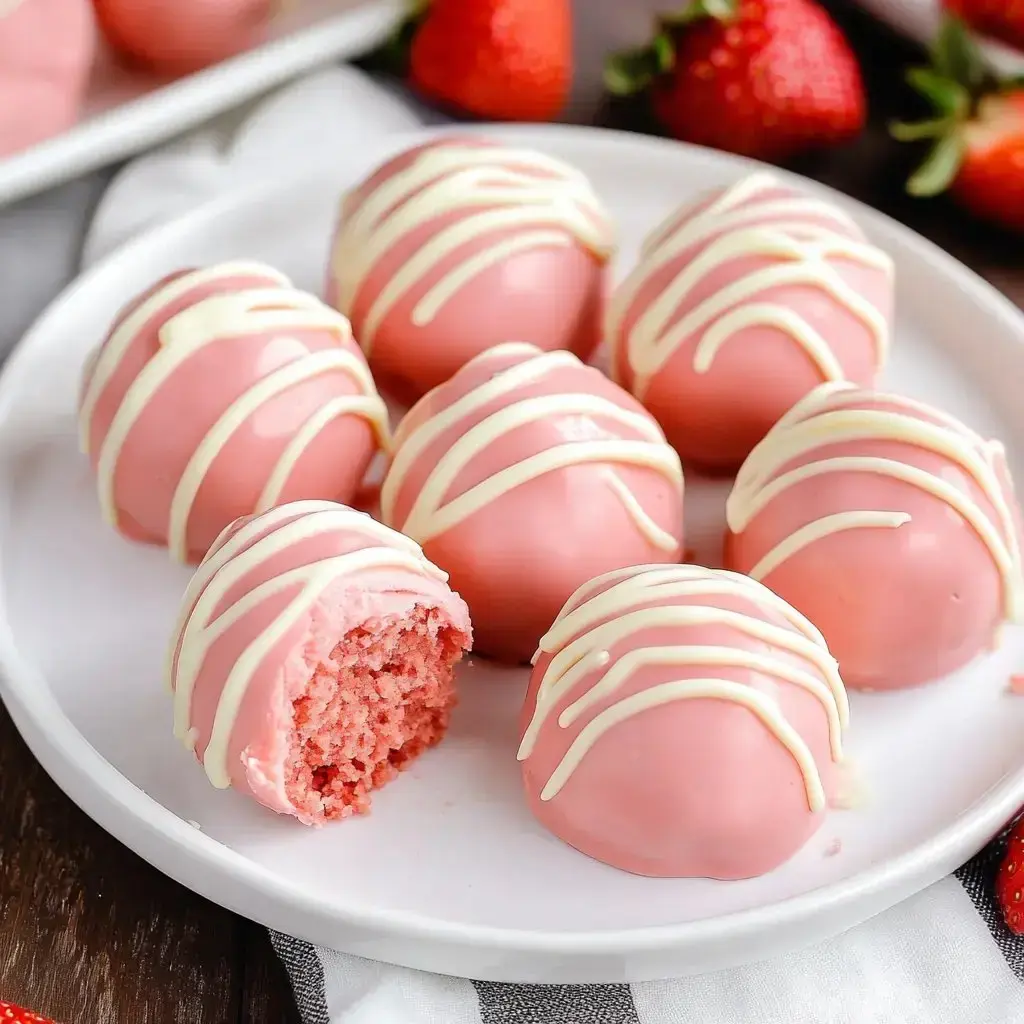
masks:
<svg viewBox="0 0 1024 1024"><path fill-rule="evenodd" d="M264 45L170 83L100 53L81 121L0 158L0 204L140 153L309 68L370 49L401 9L401 0L302 0Z"/></svg>

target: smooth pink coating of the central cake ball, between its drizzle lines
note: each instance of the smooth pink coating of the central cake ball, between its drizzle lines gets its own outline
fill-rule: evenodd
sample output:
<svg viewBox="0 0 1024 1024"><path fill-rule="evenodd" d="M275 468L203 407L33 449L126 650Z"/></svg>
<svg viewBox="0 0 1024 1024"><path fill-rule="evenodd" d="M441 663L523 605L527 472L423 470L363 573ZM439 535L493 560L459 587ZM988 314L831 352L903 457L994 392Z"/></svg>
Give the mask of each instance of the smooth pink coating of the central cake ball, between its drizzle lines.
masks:
<svg viewBox="0 0 1024 1024"><path fill-rule="evenodd" d="M468 362L410 411L396 432L396 451L417 425L528 358L521 353L488 353ZM390 516L385 512L385 521L400 528L438 459L475 424L522 398L580 393L600 395L622 409L643 414L638 402L597 370L579 362L558 369L488 401L444 430L416 460L396 493ZM552 416L518 427L479 452L456 477L445 500L565 437L637 439L639 435L600 417ZM675 538L675 548L664 550L640 532L602 475L608 466L654 521ZM647 467L567 466L506 492L423 547L450 573L452 586L469 605L474 649L503 660L525 662L564 601L587 580L627 565L679 559L682 498L680 487Z"/></svg>

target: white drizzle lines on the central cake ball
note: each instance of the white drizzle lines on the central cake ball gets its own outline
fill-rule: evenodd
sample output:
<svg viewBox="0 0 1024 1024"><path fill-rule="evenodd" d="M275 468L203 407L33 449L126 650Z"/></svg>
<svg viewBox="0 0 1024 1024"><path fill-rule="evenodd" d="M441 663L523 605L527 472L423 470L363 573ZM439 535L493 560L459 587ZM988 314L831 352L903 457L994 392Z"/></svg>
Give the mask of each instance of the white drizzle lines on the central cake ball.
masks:
<svg viewBox="0 0 1024 1024"><path fill-rule="evenodd" d="M399 427L395 436L394 460L381 488L381 514L386 523L401 529L420 544L426 544L514 487L545 473L586 463L618 463L652 469L682 492L683 472L679 457L647 413L623 409L608 398L587 391L515 397L517 390L558 370L582 370L583 364L571 352L542 352L532 345L509 342L481 353L470 365L510 355L528 357L495 374L418 426L412 429ZM505 397L508 402L498 412L460 431L458 439L431 469L401 523L397 523L395 502L398 494L410 470L427 447L478 410ZM459 474L505 435L526 424L562 416L599 418L638 436L636 439L564 438L445 500ZM408 418L406 422L409 422ZM614 470L605 467L605 477L643 537L664 551L674 550L678 546L676 538L654 521Z"/></svg>

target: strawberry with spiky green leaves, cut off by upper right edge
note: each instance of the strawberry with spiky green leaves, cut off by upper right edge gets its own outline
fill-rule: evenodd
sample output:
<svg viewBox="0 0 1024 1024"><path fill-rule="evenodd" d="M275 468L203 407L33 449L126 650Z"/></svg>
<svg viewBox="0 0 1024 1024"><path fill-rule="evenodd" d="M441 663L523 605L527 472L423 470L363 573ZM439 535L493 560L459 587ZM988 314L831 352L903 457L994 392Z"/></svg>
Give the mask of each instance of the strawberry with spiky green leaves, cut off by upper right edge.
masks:
<svg viewBox="0 0 1024 1024"><path fill-rule="evenodd" d="M908 191L936 196L948 188L977 216L1024 231L1024 86L996 78L957 18L943 24L932 63L911 69L907 81L934 116L891 128L901 141L932 142Z"/></svg>

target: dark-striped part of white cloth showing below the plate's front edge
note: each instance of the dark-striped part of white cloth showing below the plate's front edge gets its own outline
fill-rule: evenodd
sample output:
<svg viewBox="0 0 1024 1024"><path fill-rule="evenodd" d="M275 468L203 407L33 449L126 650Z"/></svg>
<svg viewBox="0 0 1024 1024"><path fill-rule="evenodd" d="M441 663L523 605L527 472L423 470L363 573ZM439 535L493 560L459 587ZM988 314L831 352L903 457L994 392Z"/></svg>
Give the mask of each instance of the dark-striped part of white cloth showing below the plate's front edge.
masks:
<svg viewBox="0 0 1024 1024"><path fill-rule="evenodd" d="M499 985L271 933L304 1024L1019 1024L1024 939L994 901L993 842L955 876L781 961L635 985Z"/></svg>

